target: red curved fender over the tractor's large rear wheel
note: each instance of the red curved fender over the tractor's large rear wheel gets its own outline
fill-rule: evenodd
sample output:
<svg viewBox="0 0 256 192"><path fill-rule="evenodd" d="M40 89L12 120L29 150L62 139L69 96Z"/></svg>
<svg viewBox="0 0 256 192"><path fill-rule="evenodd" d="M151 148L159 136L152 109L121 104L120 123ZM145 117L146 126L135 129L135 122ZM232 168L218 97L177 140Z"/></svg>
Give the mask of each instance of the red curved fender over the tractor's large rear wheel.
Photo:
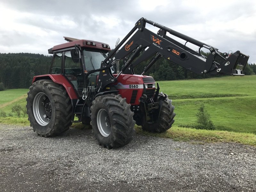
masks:
<svg viewBox="0 0 256 192"><path fill-rule="evenodd" d="M32 84L34 82L36 82L37 80L41 80L41 79L51 79L54 83L61 84L63 87L65 87L65 89L68 93L68 96L71 100L78 99L73 86L61 74L54 74L54 75L48 74L48 75L34 76L34 78L32 80Z"/></svg>

